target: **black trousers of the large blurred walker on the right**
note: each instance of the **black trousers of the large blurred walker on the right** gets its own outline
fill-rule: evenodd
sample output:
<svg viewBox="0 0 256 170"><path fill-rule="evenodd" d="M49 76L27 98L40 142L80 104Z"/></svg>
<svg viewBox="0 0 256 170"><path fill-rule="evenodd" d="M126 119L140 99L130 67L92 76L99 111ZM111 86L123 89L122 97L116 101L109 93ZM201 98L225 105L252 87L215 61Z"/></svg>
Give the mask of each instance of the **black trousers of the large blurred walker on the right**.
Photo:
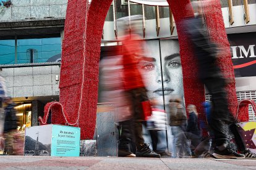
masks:
<svg viewBox="0 0 256 170"><path fill-rule="evenodd" d="M228 99L224 87L226 83L223 78L202 79L203 84L211 94L211 121L209 123L215 136L216 146L228 142L228 135L224 132L223 123L229 124L234 122L234 117L228 109Z"/></svg>

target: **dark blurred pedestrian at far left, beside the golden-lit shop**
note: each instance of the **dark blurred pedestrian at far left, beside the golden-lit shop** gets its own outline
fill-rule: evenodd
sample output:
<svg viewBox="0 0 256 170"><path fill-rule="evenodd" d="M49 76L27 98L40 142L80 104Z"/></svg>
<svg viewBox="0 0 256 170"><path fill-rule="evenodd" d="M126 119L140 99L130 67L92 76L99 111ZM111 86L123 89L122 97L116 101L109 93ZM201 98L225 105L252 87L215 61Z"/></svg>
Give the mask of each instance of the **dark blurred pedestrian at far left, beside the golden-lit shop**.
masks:
<svg viewBox="0 0 256 170"><path fill-rule="evenodd" d="M4 152L6 155L14 155L14 135L17 129L17 116L14 109L16 104L12 102L11 97L6 97L4 103L6 105L4 108Z"/></svg>

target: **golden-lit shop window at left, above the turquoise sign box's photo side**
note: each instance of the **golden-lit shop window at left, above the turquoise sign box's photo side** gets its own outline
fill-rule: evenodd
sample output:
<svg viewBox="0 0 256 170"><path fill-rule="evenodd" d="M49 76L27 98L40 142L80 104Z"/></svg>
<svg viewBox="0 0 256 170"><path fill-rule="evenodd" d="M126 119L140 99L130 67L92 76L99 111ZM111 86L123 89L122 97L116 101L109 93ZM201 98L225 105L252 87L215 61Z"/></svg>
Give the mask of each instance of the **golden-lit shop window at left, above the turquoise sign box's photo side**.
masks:
<svg viewBox="0 0 256 170"><path fill-rule="evenodd" d="M24 132L25 127L31 127L32 124L32 104L23 103L15 107L18 118L17 131Z"/></svg>

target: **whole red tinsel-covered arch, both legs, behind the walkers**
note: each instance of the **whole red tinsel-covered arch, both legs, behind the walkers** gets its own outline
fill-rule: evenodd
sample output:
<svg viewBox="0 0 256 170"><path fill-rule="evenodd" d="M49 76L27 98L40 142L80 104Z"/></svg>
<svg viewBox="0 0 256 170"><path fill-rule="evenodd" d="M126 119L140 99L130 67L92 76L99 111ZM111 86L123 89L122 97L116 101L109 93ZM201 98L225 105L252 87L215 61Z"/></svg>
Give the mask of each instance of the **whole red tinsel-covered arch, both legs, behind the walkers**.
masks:
<svg viewBox="0 0 256 170"><path fill-rule="evenodd" d="M81 139L92 139L95 130L101 34L111 2L112 0L92 0L89 5L86 0L69 0L67 5L59 84L59 102L66 113L62 114L59 110L53 114L59 115L59 123L63 120L61 116L67 115L69 124L81 127ZM186 16L185 6L190 1L168 0L168 3L173 11L179 36L186 104L194 103L202 113L201 103L205 100L205 92L196 76L197 65L191 46L180 30L181 20ZM207 16L207 25L213 41L226 47L220 64L224 75L234 80L220 1L213 0L213 9ZM235 113L237 99L234 83L228 87L228 97L234 103L231 111Z"/></svg>

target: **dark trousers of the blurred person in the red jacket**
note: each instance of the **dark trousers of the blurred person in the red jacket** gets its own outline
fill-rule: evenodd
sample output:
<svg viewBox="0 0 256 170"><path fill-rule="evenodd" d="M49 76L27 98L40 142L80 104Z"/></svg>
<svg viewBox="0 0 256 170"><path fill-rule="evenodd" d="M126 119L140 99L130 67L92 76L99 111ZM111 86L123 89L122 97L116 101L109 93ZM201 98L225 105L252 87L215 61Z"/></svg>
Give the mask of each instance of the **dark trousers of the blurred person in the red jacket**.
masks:
<svg viewBox="0 0 256 170"><path fill-rule="evenodd" d="M144 144L144 139L142 136L142 123L144 121L142 102L148 100L147 91L145 88L141 87L131 89L127 92L130 94L130 101L132 102L135 145L137 148L140 148Z"/></svg>

